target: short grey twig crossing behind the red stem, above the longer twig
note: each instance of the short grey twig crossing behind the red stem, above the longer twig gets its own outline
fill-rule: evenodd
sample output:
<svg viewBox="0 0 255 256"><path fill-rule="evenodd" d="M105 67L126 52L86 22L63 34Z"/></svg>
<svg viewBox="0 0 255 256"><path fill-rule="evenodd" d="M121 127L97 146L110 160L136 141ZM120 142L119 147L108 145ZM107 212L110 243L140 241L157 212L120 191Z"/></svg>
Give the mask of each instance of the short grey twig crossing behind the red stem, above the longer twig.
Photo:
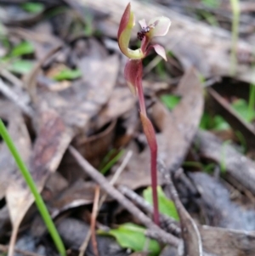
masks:
<svg viewBox="0 0 255 256"><path fill-rule="evenodd" d="M153 208L149 202L146 202L142 196L139 196L137 193L130 190L127 186L119 185L118 190L121 191L123 195L127 196L133 202L138 204L139 207L142 208L146 213L153 213ZM177 222L167 215L160 214L160 226L163 230L166 230L174 236L180 237L181 235L181 230L177 225Z"/></svg>

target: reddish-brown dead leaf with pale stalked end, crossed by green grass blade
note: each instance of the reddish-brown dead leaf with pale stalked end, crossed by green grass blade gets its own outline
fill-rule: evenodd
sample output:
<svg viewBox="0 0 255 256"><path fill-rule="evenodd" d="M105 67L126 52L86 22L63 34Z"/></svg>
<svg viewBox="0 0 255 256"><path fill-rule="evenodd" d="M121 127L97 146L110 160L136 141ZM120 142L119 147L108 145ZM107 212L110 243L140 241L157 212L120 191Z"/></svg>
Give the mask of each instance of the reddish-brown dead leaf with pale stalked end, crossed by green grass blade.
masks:
<svg viewBox="0 0 255 256"><path fill-rule="evenodd" d="M54 172L59 166L65 149L70 144L73 136L71 129L65 127L64 122L55 111L44 111L41 117L41 126L29 164L31 176L37 185L38 191L42 191L48 174ZM10 179L8 182L6 200L13 225L8 252L8 255L12 255L21 220L34 202L34 197L19 172L17 172L15 179Z"/></svg>

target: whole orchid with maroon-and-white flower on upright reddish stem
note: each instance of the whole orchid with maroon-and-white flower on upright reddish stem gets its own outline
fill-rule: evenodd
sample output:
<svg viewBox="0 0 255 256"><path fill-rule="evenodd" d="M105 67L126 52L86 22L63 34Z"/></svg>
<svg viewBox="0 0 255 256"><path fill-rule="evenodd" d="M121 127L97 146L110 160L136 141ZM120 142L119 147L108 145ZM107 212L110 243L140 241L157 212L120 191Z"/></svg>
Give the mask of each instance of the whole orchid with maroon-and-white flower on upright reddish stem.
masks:
<svg viewBox="0 0 255 256"><path fill-rule="evenodd" d="M154 221L156 224L159 224L159 211L156 191L156 134L150 119L147 117L145 108L144 91L142 87L142 59L144 59L144 57L150 53L150 50L154 48L156 54L159 54L164 60L167 61L165 49L159 44L150 44L150 42L153 37L165 36L169 30L171 21L167 17L161 16L151 19L148 25L146 24L145 20L139 20L139 24L141 26L141 30L138 32L138 39L141 40L141 48L132 50L128 48L128 45L133 26L135 25L135 20L134 14L131 11L131 5L128 3L127 8L122 14L122 20L119 26L117 38L122 54L125 54L127 58L129 58L125 66L124 76L127 80L127 84L131 92L134 95L138 94L140 118L144 128L144 134L150 146L150 176L154 207Z"/></svg>

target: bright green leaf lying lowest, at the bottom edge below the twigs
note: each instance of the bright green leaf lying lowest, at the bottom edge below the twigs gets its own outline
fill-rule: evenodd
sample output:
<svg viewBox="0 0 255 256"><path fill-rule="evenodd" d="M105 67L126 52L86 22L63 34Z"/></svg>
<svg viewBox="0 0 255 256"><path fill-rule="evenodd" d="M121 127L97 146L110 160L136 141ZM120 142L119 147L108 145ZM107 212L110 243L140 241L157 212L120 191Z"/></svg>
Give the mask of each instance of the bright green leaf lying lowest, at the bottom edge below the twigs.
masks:
<svg viewBox="0 0 255 256"><path fill-rule="evenodd" d="M131 248L135 252L146 250L150 252L150 256L158 255L161 250L158 242L144 236L144 231L145 229L139 225L126 223L117 229L107 232L99 230L98 232L99 234L114 236L121 247Z"/></svg>

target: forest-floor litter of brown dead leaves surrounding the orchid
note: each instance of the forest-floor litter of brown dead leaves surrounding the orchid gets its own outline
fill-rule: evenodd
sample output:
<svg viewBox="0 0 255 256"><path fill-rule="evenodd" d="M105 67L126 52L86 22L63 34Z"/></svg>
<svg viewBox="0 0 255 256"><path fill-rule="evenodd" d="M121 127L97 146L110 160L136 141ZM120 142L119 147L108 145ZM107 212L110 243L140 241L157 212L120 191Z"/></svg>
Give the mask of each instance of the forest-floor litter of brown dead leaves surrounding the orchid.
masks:
<svg viewBox="0 0 255 256"><path fill-rule="evenodd" d="M172 20L167 37L157 40L171 51L167 54L169 61L162 64L150 55L149 63L144 63L144 84L159 145L161 214L168 213L179 222L170 221L172 229L167 232L172 232L171 236L166 236L163 225L150 230L147 220L144 228L144 217L128 213L125 203L116 202L114 192L109 192L96 219L99 255L179 255L179 251L196 256L201 248L203 255L254 254L255 115L254 106L249 105L253 39L245 26L245 19L252 19L252 7L242 5L241 31L248 40L245 42L241 35L239 70L235 77L228 77L230 26L212 29L206 24L213 17L219 19L220 10L226 12L226 24L231 24L226 1L218 2L213 11L207 5L202 5L201 11L201 6L190 3L190 14L178 13L180 9L186 12L178 1L171 3L175 11L155 3L132 3L133 9L140 10L139 19L170 15ZM84 173L67 150L70 145L94 168L107 166L108 181L118 172L126 152L133 151L116 187L122 191L122 186L127 186L138 196L144 193L146 201L151 202L150 149L142 133L136 99L123 80L124 61L116 47L124 9L125 4L117 0L107 4L90 0L65 4L57 0L0 1L5 30L0 38L0 117L71 255L77 255L88 235L99 180ZM219 16L213 16L215 13ZM197 22L187 17L191 14L211 18ZM221 24L220 19L218 22ZM203 88L204 81L210 82L208 78L212 82ZM211 130L202 131L199 127L205 113L208 118L203 128ZM211 125L217 115L221 117L219 124L228 123L218 126L224 130L216 131ZM206 174L206 170L211 173ZM100 191L100 196L104 193ZM133 196L132 201L132 208L136 204L143 209L139 203L146 204L142 197ZM12 238L13 243L17 239L16 249L21 253L56 255L33 202L0 140L0 244L6 246ZM174 233L179 229L181 235ZM162 247L166 237L170 241L174 237L172 246ZM0 250L8 251L2 245ZM86 253L94 255L93 242L88 243Z"/></svg>

